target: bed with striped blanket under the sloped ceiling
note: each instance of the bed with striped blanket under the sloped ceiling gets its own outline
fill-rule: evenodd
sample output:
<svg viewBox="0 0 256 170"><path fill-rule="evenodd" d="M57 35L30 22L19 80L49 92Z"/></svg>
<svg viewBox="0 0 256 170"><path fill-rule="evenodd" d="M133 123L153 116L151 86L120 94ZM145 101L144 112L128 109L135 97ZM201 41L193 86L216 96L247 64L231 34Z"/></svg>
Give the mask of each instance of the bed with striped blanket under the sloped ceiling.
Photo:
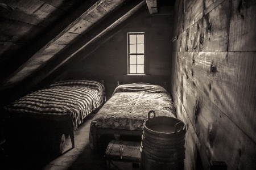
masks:
<svg viewBox="0 0 256 170"><path fill-rule="evenodd" d="M73 130L104 101L105 88L102 82L64 80L32 92L4 108L9 117L63 121L68 126L74 148Z"/></svg>

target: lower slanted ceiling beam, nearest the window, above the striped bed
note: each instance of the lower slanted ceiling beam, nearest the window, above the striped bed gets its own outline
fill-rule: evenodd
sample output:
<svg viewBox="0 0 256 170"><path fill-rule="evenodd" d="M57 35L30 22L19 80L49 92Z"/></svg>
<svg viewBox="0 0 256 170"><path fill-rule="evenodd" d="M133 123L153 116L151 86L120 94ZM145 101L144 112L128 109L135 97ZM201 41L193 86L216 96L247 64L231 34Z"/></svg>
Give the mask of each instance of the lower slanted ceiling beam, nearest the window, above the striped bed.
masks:
<svg viewBox="0 0 256 170"><path fill-rule="evenodd" d="M69 48L64 49L60 53L56 54L56 56L52 58L51 61L47 63L47 65L44 65L41 69L36 70L34 74L28 76L21 82L14 84L14 86L6 86L2 88L0 92L3 92L3 96L11 95L9 98L13 100L18 99L18 97L36 90L36 88L38 88L37 85L40 82L49 83L51 81L49 77L56 76L56 73L61 70L61 66L68 62L79 59L81 56L88 56L88 54L92 53L93 50L97 49L105 41L109 40L110 37L114 36L118 29L125 27L127 22L131 21L131 19L135 17L133 14L137 12L139 8L146 5L146 3L142 0L127 2L129 2L127 3L129 7L120 7L120 9L115 11L113 15L105 18L104 21L106 22L104 24L98 25L97 28L93 28L79 40L70 45ZM15 87L19 87L19 90ZM22 89L22 91L20 91L20 89ZM16 90L17 92L14 92L13 90Z"/></svg>

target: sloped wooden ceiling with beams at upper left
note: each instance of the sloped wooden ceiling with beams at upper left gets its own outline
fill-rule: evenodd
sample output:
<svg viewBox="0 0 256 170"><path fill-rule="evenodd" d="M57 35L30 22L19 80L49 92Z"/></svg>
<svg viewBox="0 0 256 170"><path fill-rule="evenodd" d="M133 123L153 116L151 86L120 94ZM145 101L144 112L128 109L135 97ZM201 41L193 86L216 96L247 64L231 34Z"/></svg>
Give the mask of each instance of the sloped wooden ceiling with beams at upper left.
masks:
<svg viewBox="0 0 256 170"><path fill-rule="evenodd" d="M0 92L32 88L88 55L146 4L150 11L143 0L0 0Z"/></svg>

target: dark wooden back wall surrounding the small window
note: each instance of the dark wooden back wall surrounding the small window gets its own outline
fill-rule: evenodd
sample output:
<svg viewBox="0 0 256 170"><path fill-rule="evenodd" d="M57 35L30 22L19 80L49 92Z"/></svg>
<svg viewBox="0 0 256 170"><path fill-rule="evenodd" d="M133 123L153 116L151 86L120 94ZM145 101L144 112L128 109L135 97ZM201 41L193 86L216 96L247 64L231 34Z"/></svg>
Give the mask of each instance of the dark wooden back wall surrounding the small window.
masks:
<svg viewBox="0 0 256 170"><path fill-rule="evenodd" d="M142 14L119 30L81 62L70 65L59 79L105 80L107 99L112 95L117 82L156 83L164 85L171 70L172 14L150 15L147 6ZM146 33L148 75L127 75L127 32ZM146 61L145 61L146 62Z"/></svg>

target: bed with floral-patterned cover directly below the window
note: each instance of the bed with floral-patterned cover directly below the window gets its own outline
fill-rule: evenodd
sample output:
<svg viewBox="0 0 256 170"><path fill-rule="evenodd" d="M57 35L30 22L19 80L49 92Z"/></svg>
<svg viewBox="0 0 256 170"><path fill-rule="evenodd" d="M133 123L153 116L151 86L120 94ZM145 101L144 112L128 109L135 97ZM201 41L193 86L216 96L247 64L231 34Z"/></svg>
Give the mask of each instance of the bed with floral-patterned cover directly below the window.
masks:
<svg viewBox="0 0 256 170"><path fill-rule="evenodd" d="M174 102L161 86L148 83L123 84L115 88L112 97L96 113L90 124L90 147L97 150L98 139L104 134L138 135L148 112L156 116L176 118Z"/></svg>

